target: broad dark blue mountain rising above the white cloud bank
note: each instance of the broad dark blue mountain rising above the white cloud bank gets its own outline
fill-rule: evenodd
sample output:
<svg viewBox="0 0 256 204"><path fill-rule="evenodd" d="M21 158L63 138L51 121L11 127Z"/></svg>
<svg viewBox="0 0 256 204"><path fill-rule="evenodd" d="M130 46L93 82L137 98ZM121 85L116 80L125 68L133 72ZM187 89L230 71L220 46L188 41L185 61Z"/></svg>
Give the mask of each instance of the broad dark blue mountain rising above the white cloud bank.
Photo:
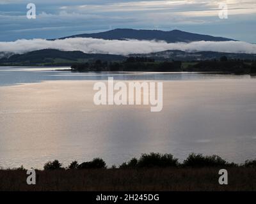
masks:
<svg viewBox="0 0 256 204"><path fill-rule="evenodd" d="M104 40L163 40L168 43L190 42L190 41L234 41L228 38L214 37L205 34L188 33L179 30L135 30L135 29L114 29L102 33L77 34L65 38L99 38ZM60 38L60 39L65 39Z"/></svg>

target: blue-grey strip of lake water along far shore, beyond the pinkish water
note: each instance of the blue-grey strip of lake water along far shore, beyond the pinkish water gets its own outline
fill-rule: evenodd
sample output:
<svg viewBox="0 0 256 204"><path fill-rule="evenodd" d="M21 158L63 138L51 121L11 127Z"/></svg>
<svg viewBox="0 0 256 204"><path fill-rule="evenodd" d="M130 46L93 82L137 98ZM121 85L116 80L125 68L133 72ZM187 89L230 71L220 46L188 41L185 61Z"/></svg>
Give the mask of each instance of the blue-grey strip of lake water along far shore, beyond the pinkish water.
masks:
<svg viewBox="0 0 256 204"><path fill-rule="evenodd" d="M143 72L88 72L78 73L58 71L63 68L38 67L0 67L0 85L13 85L42 82L44 80L214 80L214 79L250 79L250 75L218 75L202 73L143 73Z"/></svg>

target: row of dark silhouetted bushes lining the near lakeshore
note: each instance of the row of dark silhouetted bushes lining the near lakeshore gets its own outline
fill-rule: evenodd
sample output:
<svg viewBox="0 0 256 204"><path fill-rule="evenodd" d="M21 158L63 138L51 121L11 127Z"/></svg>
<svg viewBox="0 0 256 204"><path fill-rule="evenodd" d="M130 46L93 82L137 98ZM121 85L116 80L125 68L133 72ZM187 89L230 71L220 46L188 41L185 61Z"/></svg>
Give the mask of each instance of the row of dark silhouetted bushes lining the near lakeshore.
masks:
<svg viewBox="0 0 256 204"><path fill-rule="evenodd" d="M139 159L132 158L130 161L122 163L120 166L111 166L111 169L136 169L136 168L208 168L208 167L252 167L256 168L256 159L246 160L243 164L229 163L222 159L220 156L204 156L202 154L191 153L183 161L179 163L178 159L173 157L172 154L150 153L141 154ZM58 160L48 161L44 164L44 170L82 170L82 169L106 169L106 162L101 158L92 159L78 163L72 161L67 167ZM8 169L10 170L10 169ZM26 170L23 166L12 170Z"/></svg>

